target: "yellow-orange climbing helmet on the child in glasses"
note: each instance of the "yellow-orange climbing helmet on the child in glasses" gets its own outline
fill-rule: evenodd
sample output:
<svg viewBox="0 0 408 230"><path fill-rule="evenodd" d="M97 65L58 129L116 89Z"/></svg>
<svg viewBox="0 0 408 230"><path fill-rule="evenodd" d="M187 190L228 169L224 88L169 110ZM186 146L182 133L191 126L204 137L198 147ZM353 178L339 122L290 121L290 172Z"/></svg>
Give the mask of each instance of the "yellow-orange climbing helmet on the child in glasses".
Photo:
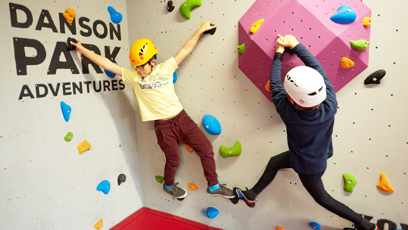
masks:
<svg viewBox="0 0 408 230"><path fill-rule="evenodd" d="M139 39L133 43L129 54L129 59L133 66L143 65L151 57L157 54L156 46L150 39Z"/></svg>

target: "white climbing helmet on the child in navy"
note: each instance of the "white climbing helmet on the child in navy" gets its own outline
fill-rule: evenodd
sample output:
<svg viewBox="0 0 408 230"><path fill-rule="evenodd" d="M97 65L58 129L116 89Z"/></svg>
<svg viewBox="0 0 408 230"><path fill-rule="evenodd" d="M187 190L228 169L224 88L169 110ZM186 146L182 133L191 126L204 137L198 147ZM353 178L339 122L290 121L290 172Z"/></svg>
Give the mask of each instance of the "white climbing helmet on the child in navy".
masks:
<svg viewBox="0 0 408 230"><path fill-rule="evenodd" d="M326 98L322 75L308 66L292 68L285 76L284 87L293 101L302 107L316 106Z"/></svg>

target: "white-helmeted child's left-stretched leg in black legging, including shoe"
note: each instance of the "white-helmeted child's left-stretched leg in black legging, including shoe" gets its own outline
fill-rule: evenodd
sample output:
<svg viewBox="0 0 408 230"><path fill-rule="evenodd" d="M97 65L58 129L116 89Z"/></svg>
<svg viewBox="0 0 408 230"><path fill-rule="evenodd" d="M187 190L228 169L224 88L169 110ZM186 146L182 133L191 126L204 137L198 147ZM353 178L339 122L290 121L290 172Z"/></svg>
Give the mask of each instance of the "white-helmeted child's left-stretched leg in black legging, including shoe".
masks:
<svg viewBox="0 0 408 230"><path fill-rule="evenodd" d="M273 178L275 178L276 173L279 169L286 169L290 167L290 156L289 151L283 152L269 159L268 165L261 178L258 180L256 185L250 189L243 191L239 188L234 188L234 194L236 197L243 199L245 203L251 208L255 206L255 198L258 196L262 190L264 190Z"/></svg>

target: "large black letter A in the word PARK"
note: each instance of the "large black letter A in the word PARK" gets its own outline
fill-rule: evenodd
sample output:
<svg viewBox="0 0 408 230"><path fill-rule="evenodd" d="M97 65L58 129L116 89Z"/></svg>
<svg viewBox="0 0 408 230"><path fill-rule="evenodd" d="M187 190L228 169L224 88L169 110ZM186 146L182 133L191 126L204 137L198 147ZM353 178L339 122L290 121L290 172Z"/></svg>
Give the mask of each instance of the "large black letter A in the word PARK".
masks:
<svg viewBox="0 0 408 230"><path fill-rule="evenodd" d="M60 61L61 53L65 56L66 61ZM49 63L47 75L56 74L59 68L69 68L72 74L80 73L78 71L77 66L73 62L71 53L69 53L69 51L67 50L67 44L62 41L57 41L57 44L55 45L53 58L51 59L51 62Z"/></svg>

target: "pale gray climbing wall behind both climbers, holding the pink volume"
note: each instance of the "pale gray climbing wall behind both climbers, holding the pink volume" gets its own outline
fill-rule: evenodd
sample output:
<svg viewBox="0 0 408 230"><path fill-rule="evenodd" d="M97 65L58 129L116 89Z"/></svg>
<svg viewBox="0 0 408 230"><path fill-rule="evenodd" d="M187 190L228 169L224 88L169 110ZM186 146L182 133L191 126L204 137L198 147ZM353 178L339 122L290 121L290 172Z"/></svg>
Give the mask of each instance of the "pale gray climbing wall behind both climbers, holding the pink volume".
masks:
<svg viewBox="0 0 408 230"><path fill-rule="evenodd" d="M273 9L288 0L257 1ZM212 114L221 123L220 135L204 131L214 147L219 180L229 187L251 188L269 158L288 149L285 126L273 104L238 68L238 20L254 1L202 0L202 6L192 11L189 20L180 15L182 0L173 1L175 9L171 13L166 11L167 1L126 2L130 44L139 38L152 39L159 50L159 62L175 55L201 21L211 20L217 25L216 33L202 36L192 54L179 66L175 90L187 113L203 131L201 119L205 114ZM324 4L320 0L315 2ZM408 50L404 45L408 28L402 23L408 4L396 1L385 5L379 0L364 0L364 3L372 12L369 65L337 94L335 153L328 160L323 181L331 196L367 219L377 221L380 229L408 229L408 109L405 106ZM327 13L334 14L338 7ZM364 79L379 69L387 71L381 84L364 85ZM138 112L135 115L145 206L223 229L275 229L279 225L286 230L298 230L309 229L308 223L312 221L320 223L322 229L351 226L316 204L291 169L278 172L258 196L255 208L249 208L243 201L234 205L221 197L209 197L199 157L188 152L183 143L176 181L184 189L188 190L190 182L199 189L188 190L183 201L173 201L155 181L155 175L163 175L165 158L156 144L154 123L142 123ZM220 145L233 146L237 140L242 143L241 156L222 158ZM376 188L381 172L386 173L394 193L386 194ZM358 178L350 194L343 191L343 173ZM200 214L209 206L220 211L214 219Z"/></svg>

